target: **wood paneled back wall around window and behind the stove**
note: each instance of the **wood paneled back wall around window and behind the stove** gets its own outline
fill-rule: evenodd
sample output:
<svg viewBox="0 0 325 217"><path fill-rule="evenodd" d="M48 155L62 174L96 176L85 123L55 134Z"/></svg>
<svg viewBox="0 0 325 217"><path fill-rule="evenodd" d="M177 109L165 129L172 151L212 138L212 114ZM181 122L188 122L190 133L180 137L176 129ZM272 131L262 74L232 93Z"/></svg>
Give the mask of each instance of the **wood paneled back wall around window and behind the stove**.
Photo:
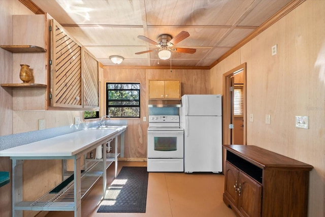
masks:
<svg viewBox="0 0 325 217"><path fill-rule="evenodd" d="M101 74L101 73L100 73ZM127 118L128 128L125 133L124 157L126 160L146 160L147 128L143 116L148 117L148 80L180 79L184 94L209 94L209 70L158 70L158 69L117 69L105 67L100 75L101 83L101 115L106 112L106 82L139 82L141 85L141 118Z"/></svg>

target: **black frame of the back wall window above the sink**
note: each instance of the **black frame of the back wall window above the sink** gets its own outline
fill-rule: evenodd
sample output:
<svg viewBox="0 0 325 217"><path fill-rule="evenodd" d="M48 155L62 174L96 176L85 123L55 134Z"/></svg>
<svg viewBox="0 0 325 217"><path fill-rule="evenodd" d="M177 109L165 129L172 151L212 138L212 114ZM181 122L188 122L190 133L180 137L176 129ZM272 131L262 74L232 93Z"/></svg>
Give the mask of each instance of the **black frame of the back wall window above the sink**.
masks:
<svg viewBox="0 0 325 217"><path fill-rule="evenodd" d="M108 89L108 84L137 84L139 85L139 89L114 89L114 90L136 90L139 92L139 105L130 105L130 106L109 106L109 102L110 100L108 99L109 97L109 90L112 89ZM112 116L112 117L116 117L116 118L141 118L141 83L140 82L106 82L105 83L105 88L106 88L106 115L109 115L109 107L116 107L116 108L125 108L125 107L139 107L139 115L138 116ZM125 101L125 100L121 100L121 101ZM131 100L129 100L131 102Z"/></svg>

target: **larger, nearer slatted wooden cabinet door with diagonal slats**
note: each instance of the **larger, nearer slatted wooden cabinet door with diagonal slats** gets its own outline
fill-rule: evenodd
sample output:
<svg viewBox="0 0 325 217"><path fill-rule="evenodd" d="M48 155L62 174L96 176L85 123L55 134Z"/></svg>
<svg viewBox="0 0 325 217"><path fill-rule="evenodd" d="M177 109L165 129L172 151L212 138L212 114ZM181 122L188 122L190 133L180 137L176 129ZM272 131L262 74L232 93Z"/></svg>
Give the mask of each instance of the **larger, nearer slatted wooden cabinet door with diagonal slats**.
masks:
<svg viewBox="0 0 325 217"><path fill-rule="evenodd" d="M53 20L51 106L81 108L81 46Z"/></svg>

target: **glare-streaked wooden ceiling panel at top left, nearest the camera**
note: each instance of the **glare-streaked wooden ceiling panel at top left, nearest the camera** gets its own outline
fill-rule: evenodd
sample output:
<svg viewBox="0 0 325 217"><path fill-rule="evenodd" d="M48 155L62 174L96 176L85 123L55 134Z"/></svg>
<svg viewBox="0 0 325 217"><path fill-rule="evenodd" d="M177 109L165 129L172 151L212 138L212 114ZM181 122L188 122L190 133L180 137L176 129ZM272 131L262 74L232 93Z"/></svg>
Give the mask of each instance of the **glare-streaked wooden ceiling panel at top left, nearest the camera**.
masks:
<svg viewBox="0 0 325 217"><path fill-rule="evenodd" d="M141 1L34 0L33 2L60 24L143 24Z"/></svg>

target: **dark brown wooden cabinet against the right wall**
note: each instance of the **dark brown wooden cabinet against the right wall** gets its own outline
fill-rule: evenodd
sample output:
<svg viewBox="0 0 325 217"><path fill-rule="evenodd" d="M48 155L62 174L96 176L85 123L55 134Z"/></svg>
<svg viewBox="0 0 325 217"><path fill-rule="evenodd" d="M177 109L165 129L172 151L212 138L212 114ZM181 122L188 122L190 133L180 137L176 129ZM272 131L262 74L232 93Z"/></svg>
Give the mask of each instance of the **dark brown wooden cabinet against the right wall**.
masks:
<svg viewBox="0 0 325 217"><path fill-rule="evenodd" d="M311 165L253 145L223 147L223 201L238 216L307 216Z"/></svg>

